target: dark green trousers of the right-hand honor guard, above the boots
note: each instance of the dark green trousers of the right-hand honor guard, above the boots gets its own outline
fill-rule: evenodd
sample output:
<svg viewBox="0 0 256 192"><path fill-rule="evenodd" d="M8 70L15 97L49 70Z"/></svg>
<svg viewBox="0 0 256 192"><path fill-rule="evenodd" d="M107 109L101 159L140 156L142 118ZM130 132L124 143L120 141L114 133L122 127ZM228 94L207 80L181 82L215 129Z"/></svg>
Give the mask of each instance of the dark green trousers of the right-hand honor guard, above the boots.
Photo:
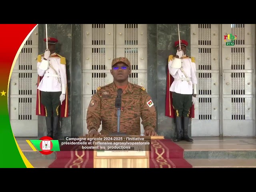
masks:
<svg viewBox="0 0 256 192"><path fill-rule="evenodd" d="M172 92L172 106L177 117L189 117L192 106L192 94L179 94Z"/></svg>

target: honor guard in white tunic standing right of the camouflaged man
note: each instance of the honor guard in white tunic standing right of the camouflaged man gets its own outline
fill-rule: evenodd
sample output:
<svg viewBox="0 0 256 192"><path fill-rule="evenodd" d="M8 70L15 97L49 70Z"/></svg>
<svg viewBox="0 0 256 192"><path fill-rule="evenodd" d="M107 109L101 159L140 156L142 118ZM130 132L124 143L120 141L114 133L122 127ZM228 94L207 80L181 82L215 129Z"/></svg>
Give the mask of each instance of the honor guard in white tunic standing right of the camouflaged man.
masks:
<svg viewBox="0 0 256 192"><path fill-rule="evenodd" d="M179 45L180 44L180 45ZM192 142L188 137L188 120L190 108L196 102L196 64L194 58L186 56L188 42L180 40L175 42L177 53L169 56L168 71L174 78L170 86L172 92L172 106L176 115L177 138L174 142L186 140ZM183 127L182 127L183 116ZM183 135L182 135L183 128Z"/></svg>

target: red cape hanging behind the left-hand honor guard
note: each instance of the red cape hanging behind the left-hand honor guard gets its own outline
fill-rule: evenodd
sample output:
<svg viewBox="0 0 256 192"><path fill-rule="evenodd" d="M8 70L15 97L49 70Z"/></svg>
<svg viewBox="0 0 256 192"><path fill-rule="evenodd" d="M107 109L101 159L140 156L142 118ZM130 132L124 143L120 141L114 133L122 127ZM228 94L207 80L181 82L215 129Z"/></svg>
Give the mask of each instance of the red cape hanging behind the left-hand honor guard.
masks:
<svg viewBox="0 0 256 192"><path fill-rule="evenodd" d="M40 84L43 77L38 75L37 86ZM36 92L36 115L45 116L45 108L41 103L41 91L37 89ZM68 86L66 87L66 98L60 106L60 116L68 117Z"/></svg>

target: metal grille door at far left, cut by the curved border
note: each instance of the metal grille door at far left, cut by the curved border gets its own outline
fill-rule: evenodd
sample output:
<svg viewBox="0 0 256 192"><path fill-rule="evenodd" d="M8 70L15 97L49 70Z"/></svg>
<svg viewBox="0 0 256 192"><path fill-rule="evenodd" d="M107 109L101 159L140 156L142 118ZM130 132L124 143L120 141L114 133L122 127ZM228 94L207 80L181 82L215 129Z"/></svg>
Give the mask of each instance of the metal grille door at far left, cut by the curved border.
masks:
<svg viewBox="0 0 256 192"><path fill-rule="evenodd" d="M10 79L9 114L16 137L37 137L36 90L38 27L24 44Z"/></svg>

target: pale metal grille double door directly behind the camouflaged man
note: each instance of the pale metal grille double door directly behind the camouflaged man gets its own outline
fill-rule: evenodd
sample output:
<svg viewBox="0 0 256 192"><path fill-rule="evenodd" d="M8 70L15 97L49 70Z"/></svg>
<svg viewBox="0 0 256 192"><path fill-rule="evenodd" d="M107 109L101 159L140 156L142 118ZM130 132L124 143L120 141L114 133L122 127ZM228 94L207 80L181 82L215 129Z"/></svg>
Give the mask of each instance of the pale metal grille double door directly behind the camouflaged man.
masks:
<svg viewBox="0 0 256 192"><path fill-rule="evenodd" d="M91 96L96 93L98 86L113 82L110 74L113 58L127 57L132 69L129 82L146 88L146 26L146 24L83 25L83 134L88 133L86 113Z"/></svg>

